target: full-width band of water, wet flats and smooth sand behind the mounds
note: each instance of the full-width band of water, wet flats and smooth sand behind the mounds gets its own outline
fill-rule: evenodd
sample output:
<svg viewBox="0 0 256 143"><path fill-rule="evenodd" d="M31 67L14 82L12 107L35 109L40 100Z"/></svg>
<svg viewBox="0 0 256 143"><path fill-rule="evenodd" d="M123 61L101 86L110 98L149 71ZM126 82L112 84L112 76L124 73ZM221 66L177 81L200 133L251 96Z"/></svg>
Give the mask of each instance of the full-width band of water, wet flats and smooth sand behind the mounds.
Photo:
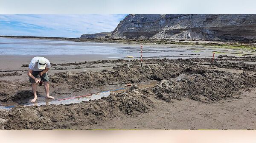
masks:
<svg viewBox="0 0 256 143"><path fill-rule="evenodd" d="M0 70L19 70L35 56L44 56L54 64L110 59L140 59L140 44L74 42L52 39L0 38ZM65 50L64 50L65 49ZM111 52L110 52L111 51ZM143 59L210 58L215 56L256 56L254 48L230 48L207 45L143 44Z"/></svg>

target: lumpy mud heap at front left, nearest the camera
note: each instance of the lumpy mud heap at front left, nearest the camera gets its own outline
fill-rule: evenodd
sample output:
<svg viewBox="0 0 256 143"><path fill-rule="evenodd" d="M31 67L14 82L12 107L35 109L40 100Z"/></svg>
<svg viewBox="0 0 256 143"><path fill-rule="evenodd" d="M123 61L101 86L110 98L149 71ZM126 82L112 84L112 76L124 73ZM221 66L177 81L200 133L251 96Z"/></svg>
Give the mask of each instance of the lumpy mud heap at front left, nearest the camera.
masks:
<svg viewBox="0 0 256 143"><path fill-rule="evenodd" d="M9 111L5 129L90 129L99 121L119 114L137 116L153 107L146 91L130 87L124 93L111 93L108 97L79 104L49 105L41 107L15 107Z"/></svg>

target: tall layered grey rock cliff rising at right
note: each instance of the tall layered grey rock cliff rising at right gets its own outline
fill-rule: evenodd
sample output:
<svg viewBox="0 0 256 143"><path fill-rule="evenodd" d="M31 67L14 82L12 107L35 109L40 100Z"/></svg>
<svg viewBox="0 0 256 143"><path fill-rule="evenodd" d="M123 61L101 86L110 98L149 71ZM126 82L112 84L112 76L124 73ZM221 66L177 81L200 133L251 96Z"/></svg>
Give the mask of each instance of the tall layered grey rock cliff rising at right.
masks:
<svg viewBox="0 0 256 143"><path fill-rule="evenodd" d="M110 38L256 42L256 14L130 14Z"/></svg>

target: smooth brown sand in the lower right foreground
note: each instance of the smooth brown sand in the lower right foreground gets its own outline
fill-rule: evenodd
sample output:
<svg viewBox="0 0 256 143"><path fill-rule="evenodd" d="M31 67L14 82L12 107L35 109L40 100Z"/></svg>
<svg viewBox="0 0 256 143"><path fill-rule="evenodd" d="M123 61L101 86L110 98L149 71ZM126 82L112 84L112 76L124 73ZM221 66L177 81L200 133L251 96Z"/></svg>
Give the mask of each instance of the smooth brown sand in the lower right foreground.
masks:
<svg viewBox="0 0 256 143"><path fill-rule="evenodd" d="M94 129L256 129L256 89L243 92L242 99L213 104L191 99L156 106L137 118L121 116L93 126ZM114 122L113 122L114 121Z"/></svg>

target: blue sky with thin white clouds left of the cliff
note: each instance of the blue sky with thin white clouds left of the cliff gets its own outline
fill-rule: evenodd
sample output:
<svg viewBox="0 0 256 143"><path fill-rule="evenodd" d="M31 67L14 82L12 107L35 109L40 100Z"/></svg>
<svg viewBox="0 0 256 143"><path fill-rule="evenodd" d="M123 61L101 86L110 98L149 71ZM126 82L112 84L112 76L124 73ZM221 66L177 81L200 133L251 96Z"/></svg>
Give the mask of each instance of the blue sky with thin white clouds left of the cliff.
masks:
<svg viewBox="0 0 256 143"><path fill-rule="evenodd" d="M80 37L113 31L127 14L0 14L0 35Z"/></svg>

